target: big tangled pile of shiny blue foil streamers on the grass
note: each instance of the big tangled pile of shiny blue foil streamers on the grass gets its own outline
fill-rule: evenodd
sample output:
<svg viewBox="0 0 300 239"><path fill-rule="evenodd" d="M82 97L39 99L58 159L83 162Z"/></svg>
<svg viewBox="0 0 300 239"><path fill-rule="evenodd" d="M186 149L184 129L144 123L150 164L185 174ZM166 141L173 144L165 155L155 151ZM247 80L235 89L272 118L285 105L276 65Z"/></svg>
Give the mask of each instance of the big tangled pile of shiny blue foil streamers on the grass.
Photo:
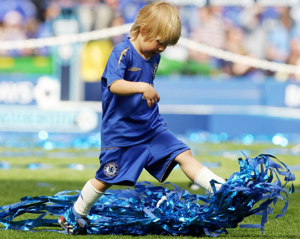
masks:
<svg viewBox="0 0 300 239"><path fill-rule="evenodd" d="M171 183L154 186L150 182L140 182L134 189L108 190L88 215L91 221L87 225L88 233L218 236L228 233L227 228L237 227L251 215L260 215L261 223L240 227L261 228L263 233L267 216L278 199L284 206L276 218L284 216L288 206L284 187L294 181L295 176L286 164L272 155L240 158L238 163L240 172L233 173L218 191L215 190L218 182L212 180L214 193L206 196L192 195ZM284 177L283 182L280 177ZM289 193L293 192L292 183ZM80 216L73 210L73 203L79 195L80 191L62 191L54 196L24 197L21 202L0 207L0 223L6 230L32 231L41 226L58 227L57 219L44 217L64 215L76 231L76 220ZM25 213L40 215L33 219L15 219Z"/></svg>

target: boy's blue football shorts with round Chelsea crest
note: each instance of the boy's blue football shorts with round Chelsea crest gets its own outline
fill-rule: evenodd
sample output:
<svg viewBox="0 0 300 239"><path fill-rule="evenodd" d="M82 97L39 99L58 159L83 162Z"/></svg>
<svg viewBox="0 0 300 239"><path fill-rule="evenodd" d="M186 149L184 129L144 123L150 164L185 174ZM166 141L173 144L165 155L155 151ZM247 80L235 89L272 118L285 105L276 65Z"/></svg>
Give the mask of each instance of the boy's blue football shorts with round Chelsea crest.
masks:
<svg viewBox="0 0 300 239"><path fill-rule="evenodd" d="M95 178L105 183L133 186L145 168L163 182L177 165L173 159L189 149L170 130L164 130L137 145L101 150L100 168Z"/></svg>

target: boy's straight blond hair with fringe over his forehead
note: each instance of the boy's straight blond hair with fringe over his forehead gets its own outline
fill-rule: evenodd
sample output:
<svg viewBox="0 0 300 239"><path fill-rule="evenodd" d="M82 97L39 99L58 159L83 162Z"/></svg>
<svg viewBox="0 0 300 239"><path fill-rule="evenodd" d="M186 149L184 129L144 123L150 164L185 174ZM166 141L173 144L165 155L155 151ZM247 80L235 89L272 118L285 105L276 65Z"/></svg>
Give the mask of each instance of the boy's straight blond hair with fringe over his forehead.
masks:
<svg viewBox="0 0 300 239"><path fill-rule="evenodd" d="M178 9L168 2L158 1L150 3L138 12L130 36L135 38L143 27L146 40L159 40L174 46L181 36L181 21Z"/></svg>

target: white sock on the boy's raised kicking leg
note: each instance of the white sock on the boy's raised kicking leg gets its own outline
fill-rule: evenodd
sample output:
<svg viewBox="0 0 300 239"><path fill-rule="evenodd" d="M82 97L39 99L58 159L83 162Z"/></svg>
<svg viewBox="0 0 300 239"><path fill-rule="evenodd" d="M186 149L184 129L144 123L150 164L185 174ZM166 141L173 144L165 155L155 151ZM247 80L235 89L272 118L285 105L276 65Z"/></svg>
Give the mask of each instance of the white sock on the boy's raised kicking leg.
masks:
<svg viewBox="0 0 300 239"><path fill-rule="evenodd" d="M198 186L204 188L208 192L212 193L212 186L210 185L210 181L214 179L220 183L225 183L225 180L221 177L215 175L211 170L207 167L203 167L196 175L194 183ZM215 183L216 190L219 190L222 184Z"/></svg>

